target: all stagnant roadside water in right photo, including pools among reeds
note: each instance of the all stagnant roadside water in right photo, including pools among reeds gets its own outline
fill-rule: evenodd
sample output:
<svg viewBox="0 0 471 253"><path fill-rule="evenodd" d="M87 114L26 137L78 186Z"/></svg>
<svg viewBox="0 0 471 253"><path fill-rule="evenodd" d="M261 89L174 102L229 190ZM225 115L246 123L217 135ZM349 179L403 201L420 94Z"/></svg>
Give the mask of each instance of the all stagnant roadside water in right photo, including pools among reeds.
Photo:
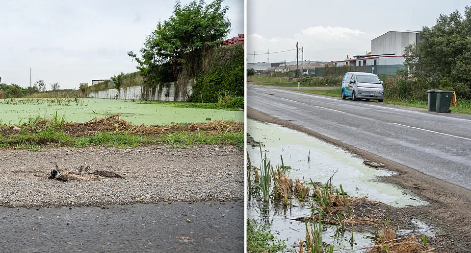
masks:
<svg viewBox="0 0 471 253"><path fill-rule="evenodd" d="M412 195L404 189L392 184L378 181L379 177L391 176L394 173L385 169L377 169L363 164L363 159L344 149L319 140L307 134L282 127L276 124L262 123L247 119L247 133L262 143L262 156L272 162L273 166L281 164L280 155L285 165L291 166L289 178L325 183L335 173L332 184L339 186L350 196L369 196L369 200L380 201L392 207L408 207L427 205L426 201ZM252 165L259 167L262 157L259 147L247 145ZM308 162L308 155L310 161ZM278 238L288 239L286 244L296 246L298 239L305 239L304 222L298 219L310 216L311 209L304 202L292 200L290 207L277 207L273 203L262 207L262 201L251 199L247 205L247 217L261 223L271 224L272 232L279 233ZM415 220L419 230L427 225ZM335 226L324 226L323 240L335 246L335 252L365 252L364 248L373 245L371 233L354 232L353 241L351 230L345 234L336 234ZM399 232L407 233L408 230ZM433 234L429 234L433 236Z"/></svg>

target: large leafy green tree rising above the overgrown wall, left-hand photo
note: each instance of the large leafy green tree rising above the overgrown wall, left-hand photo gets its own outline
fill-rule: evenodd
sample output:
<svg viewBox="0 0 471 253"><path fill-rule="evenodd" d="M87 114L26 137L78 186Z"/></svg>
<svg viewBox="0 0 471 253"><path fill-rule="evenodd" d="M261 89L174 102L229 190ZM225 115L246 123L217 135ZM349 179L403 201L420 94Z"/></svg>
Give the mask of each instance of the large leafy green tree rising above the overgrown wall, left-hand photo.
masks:
<svg viewBox="0 0 471 253"><path fill-rule="evenodd" d="M128 52L136 60L146 85L175 81L183 66L189 76L196 76L204 48L219 45L229 34L231 22L226 17L229 7L223 7L222 2L205 4L199 0L182 6L177 1L173 15L158 23L147 37L140 50L141 58L133 51Z"/></svg>

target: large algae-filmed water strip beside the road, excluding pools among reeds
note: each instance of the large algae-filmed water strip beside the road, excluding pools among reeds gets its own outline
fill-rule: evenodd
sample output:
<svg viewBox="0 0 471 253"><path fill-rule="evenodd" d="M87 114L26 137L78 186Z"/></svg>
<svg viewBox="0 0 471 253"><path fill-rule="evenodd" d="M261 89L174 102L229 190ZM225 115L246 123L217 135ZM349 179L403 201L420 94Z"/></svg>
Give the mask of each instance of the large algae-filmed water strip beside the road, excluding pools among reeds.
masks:
<svg viewBox="0 0 471 253"><path fill-rule="evenodd" d="M392 171L374 169L363 164L363 159L305 133L301 133L275 124L247 120L247 133L255 141L266 145L263 155L273 164L281 164L280 155L285 165L291 166L289 176L292 179L304 179L309 182L325 183L333 174L334 185L343 185L343 189L354 197L369 196L393 207L419 206L428 204L411 192L398 186L378 181L379 177L393 175ZM259 148L247 146L255 166L260 166ZM310 161L308 162L308 155Z"/></svg>

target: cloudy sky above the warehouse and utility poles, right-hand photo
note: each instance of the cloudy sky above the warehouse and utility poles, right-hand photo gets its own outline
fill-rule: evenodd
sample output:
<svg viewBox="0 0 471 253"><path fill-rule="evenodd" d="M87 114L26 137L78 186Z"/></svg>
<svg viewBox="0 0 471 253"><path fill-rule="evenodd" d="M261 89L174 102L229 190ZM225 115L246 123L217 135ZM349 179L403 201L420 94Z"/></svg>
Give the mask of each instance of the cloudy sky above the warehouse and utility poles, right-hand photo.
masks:
<svg viewBox="0 0 471 253"><path fill-rule="evenodd" d="M387 31L421 30L439 15L458 9L465 0L247 0L247 54L283 51L304 46L304 59L343 60L365 54L371 40ZM247 62L253 62L252 55ZM270 54L270 62L296 61L296 51ZM301 51L299 52L301 60ZM255 62L266 62L256 55Z"/></svg>

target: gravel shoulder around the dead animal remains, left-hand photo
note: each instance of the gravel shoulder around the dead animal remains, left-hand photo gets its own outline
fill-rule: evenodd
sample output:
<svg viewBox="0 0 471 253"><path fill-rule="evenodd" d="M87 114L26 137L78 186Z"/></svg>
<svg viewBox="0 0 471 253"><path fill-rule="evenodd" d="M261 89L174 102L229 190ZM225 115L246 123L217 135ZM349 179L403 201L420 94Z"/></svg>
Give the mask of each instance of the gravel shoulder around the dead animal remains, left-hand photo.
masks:
<svg viewBox="0 0 471 253"><path fill-rule="evenodd" d="M86 161L91 170L112 171L125 179L46 179L54 161L60 169ZM243 200L243 181L244 152L235 146L0 149L0 205L5 207Z"/></svg>

